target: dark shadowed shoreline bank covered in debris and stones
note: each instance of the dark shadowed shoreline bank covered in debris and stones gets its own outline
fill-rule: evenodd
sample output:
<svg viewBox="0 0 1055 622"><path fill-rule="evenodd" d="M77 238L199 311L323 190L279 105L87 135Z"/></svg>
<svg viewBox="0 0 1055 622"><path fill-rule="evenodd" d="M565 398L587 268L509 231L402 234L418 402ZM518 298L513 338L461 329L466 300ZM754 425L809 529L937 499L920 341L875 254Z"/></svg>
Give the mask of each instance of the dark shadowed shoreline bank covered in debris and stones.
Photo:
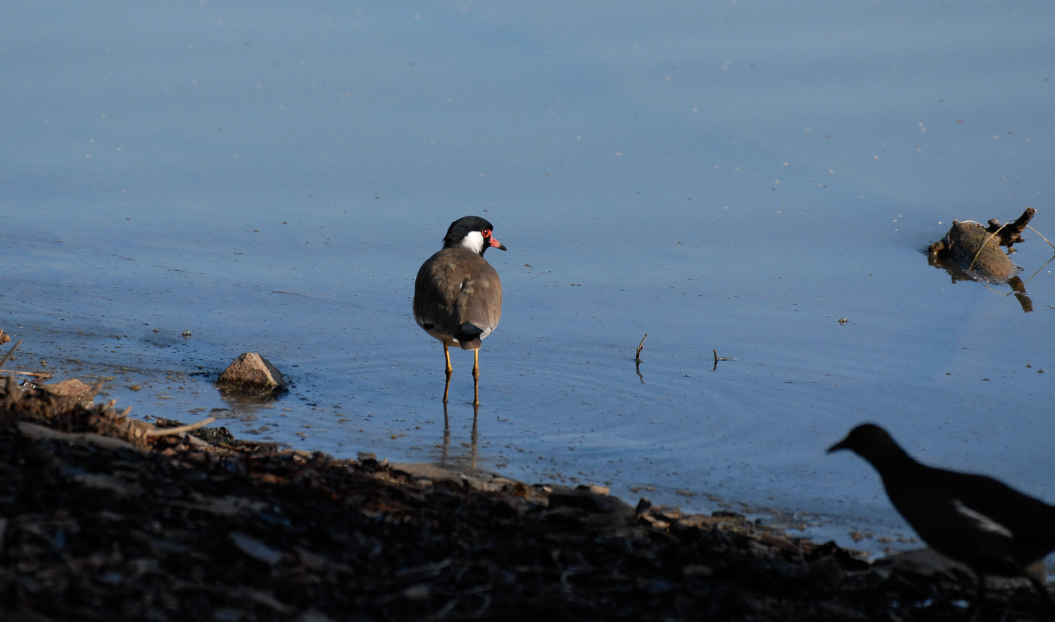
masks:
<svg viewBox="0 0 1055 622"><path fill-rule="evenodd" d="M735 514L210 445L3 384L2 620L959 620L971 597ZM1043 615L1022 588L983 619Z"/></svg>

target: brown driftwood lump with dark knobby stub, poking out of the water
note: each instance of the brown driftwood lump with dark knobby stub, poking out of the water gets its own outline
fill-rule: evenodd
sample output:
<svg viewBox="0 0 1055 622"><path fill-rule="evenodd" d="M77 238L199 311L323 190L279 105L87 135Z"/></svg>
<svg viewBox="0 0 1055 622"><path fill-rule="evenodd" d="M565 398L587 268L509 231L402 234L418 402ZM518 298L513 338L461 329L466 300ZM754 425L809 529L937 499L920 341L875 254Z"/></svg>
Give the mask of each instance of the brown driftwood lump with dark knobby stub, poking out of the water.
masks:
<svg viewBox="0 0 1055 622"><path fill-rule="evenodd" d="M1037 210L1025 208L1018 220L1001 225L996 219L984 227L974 221L953 221L945 237L927 247L927 253L955 263L985 279L1006 281L1018 268L1000 249L1022 242L1022 231Z"/></svg>

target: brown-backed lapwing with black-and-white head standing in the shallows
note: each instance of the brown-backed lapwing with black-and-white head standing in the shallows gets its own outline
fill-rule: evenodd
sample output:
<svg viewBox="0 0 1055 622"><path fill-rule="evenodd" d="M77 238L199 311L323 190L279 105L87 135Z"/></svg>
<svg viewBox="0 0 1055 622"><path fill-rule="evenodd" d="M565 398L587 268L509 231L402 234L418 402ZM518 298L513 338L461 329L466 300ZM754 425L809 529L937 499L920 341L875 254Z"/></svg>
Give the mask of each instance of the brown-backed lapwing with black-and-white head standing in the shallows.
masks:
<svg viewBox="0 0 1055 622"><path fill-rule="evenodd" d="M483 253L491 247L505 250L491 237L491 223L465 216L450 223L443 249L421 264L414 283L414 319L443 342L447 382L450 389L450 353L458 344L473 351L473 403L480 403L480 341L491 335L502 318L502 282Z"/></svg>

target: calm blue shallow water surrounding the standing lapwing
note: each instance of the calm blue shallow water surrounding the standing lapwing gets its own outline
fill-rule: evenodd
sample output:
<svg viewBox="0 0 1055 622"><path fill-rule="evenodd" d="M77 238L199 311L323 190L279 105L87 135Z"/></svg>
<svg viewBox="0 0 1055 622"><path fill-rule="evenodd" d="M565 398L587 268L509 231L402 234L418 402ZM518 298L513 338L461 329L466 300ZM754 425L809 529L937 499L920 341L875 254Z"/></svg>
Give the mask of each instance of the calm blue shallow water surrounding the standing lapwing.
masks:
<svg viewBox="0 0 1055 622"><path fill-rule="evenodd" d="M112 378L138 416L225 409L236 435L768 508L841 544L906 532L863 460L825 454L866 420L1055 502L1052 247L1016 247L1030 313L922 253L1027 206L1055 240L1047 3L11 13L19 369ZM471 355L445 436L409 313L473 213L509 247L475 442ZM246 351L292 390L225 400Z"/></svg>

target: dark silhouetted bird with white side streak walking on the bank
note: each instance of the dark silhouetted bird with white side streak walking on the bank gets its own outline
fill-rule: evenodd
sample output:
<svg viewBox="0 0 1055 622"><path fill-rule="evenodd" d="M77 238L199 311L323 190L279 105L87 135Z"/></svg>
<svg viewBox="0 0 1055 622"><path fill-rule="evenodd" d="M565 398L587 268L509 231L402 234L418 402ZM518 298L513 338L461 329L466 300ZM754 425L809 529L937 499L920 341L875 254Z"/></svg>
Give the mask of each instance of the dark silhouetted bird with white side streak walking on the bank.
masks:
<svg viewBox="0 0 1055 622"><path fill-rule="evenodd" d="M848 449L879 471L898 512L931 548L977 576L977 614L987 574L1025 577L1044 588L1044 557L1055 550L1055 507L992 477L921 465L879 426L858 426L828 452Z"/></svg>

